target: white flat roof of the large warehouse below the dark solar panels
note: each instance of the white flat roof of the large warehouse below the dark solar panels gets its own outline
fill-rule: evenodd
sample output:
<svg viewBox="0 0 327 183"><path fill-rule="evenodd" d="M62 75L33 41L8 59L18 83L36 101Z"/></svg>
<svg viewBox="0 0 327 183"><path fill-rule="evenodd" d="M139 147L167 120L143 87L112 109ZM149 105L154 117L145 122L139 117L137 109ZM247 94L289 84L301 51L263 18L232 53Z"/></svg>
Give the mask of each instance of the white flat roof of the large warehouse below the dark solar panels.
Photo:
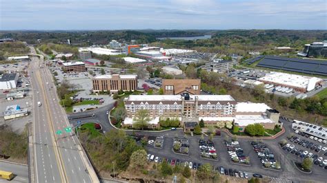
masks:
<svg viewBox="0 0 327 183"><path fill-rule="evenodd" d="M315 77L300 76L297 74L287 74L281 72L271 72L271 74L259 78L258 80L279 83L281 85L289 85L292 87L306 88L308 87L310 78ZM316 83L319 81L321 81L321 78L316 78Z"/></svg>

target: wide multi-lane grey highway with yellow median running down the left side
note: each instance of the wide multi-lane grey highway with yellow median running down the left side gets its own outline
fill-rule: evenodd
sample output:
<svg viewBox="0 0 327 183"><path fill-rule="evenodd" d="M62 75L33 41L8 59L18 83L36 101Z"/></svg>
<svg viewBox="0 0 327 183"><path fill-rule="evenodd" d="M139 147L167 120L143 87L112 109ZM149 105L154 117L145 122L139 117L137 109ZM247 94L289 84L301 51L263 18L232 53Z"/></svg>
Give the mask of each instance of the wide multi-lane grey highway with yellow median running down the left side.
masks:
<svg viewBox="0 0 327 183"><path fill-rule="evenodd" d="M59 105L50 70L33 57L30 78L34 103L35 182L99 182L83 149ZM37 102L41 102L41 106ZM56 134L56 131L62 131Z"/></svg>

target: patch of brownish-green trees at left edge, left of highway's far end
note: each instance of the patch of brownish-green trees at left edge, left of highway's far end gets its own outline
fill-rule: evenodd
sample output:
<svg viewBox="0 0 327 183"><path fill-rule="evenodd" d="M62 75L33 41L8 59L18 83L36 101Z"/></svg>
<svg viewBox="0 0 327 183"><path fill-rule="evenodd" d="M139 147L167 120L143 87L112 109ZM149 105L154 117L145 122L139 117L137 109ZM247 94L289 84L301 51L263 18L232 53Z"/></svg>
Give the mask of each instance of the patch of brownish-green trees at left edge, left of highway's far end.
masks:
<svg viewBox="0 0 327 183"><path fill-rule="evenodd" d="M14 54L28 54L30 48L21 41L1 43L0 44L0 61L6 60L6 56Z"/></svg>

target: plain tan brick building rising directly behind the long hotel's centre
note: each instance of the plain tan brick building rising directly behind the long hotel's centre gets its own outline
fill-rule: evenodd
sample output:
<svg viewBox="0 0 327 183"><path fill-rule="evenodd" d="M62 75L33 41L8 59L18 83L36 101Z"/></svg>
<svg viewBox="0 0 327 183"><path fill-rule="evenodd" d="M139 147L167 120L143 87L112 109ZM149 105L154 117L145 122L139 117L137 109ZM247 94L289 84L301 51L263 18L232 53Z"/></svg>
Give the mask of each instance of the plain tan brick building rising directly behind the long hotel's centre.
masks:
<svg viewBox="0 0 327 183"><path fill-rule="evenodd" d="M162 89L165 95L179 95L187 92L190 95L199 95L201 89L200 79L164 79Z"/></svg>

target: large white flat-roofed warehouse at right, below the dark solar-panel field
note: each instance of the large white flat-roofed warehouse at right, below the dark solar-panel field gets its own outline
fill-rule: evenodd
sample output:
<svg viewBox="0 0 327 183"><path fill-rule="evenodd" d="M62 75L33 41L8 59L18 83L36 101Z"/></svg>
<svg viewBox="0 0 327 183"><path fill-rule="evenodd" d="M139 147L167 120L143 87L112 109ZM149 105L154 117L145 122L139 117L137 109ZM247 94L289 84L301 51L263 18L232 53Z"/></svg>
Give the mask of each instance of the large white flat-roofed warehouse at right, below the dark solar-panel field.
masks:
<svg viewBox="0 0 327 183"><path fill-rule="evenodd" d="M265 84L288 87L297 92L310 92L323 82L321 78L300 76L296 74L286 74L281 72L271 72L266 76L259 78L259 81Z"/></svg>

